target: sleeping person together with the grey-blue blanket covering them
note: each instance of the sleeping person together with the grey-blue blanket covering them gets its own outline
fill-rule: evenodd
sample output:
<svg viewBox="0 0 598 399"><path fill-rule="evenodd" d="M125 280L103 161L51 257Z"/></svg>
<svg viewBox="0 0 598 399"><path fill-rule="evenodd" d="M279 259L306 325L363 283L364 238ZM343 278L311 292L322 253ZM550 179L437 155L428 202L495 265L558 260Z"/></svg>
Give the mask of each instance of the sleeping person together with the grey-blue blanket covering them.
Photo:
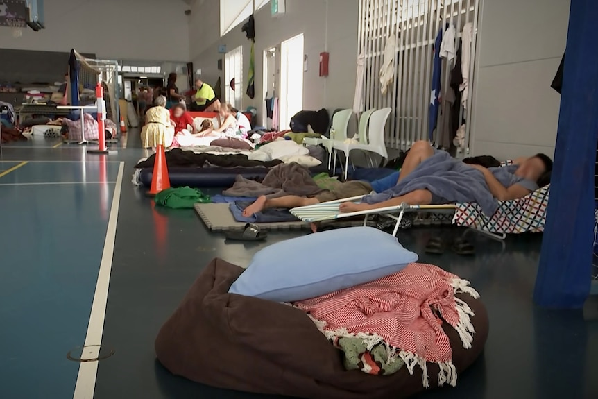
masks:
<svg viewBox="0 0 598 399"><path fill-rule="evenodd" d="M544 154L518 160L507 167L484 168L464 164L449 153L434 149L429 142L416 142L404 160L398 181L392 187L363 181L342 183L334 191L311 198L261 196L244 210L248 217L266 208L293 208L334 201L350 196L364 196L360 203L345 202L340 212L375 210L382 207L478 203L485 214L492 215L499 201L522 198L538 189L538 181L552 171L552 160ZM370 194L373 186L381 192ZM369 195L367 195L369 194Z"/></svg>

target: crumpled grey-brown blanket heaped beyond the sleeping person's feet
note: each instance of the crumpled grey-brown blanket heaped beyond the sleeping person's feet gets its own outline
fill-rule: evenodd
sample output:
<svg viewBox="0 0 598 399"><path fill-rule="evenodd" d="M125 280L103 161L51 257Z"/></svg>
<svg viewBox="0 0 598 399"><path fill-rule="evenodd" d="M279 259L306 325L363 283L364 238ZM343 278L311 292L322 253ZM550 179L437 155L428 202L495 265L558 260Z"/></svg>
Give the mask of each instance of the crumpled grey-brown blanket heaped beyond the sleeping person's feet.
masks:
<svg viewBox="0 0 598 399"><path fill-rule="evenodd" d="M314 196L324 190L316 185L306 167L296 162L280 164L268 172L261 183L237 176L234 185L222 192L225 196L271 198L285 195Z"/></svg>

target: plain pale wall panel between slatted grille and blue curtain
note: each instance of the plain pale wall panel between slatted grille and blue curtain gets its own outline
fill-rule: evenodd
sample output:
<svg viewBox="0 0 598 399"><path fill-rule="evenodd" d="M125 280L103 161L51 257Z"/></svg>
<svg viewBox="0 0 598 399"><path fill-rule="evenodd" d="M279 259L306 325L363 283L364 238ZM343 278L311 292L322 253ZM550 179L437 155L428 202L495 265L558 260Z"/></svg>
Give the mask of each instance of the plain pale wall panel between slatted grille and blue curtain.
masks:
<svg viewBox="0 0 598 399"><path fill-rule="evenodd" d="M550 88L567 39L569 0L482 0L472 151L552 156L561 96Z"/></svg>

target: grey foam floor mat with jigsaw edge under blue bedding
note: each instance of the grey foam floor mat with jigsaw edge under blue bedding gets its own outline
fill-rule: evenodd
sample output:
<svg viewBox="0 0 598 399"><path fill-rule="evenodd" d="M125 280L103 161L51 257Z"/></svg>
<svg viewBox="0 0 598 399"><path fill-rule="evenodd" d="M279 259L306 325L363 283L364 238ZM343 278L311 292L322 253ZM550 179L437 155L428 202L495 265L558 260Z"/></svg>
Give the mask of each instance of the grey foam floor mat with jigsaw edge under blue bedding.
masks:
<svg viewBox="0 0 598 399"><path fill-rule="evenodd" d="M228 203L197 203L195 212L199 215L205 226L213 232L241 231L246 223L234 220L230 213ZM262 230L309 230L309 223L302 221L285 221L277 223L255 223ZM327 223L330 224L330 223ZM361 226L364 219L352 221L335 221L336 227ZM369 224L369 223L368 223ZM323 224L323 226L325 226ZM372 224L373 226L373 224Z"/></svg>

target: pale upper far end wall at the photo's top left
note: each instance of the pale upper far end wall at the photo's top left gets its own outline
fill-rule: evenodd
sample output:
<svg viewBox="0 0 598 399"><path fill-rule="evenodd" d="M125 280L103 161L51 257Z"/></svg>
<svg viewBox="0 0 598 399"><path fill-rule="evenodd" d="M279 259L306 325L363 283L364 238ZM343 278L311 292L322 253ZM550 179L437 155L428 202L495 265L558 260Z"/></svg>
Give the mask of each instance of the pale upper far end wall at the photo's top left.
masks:
<svg viewBox="0 0 598 399"><path fill-rule="evenodd" d="M98 58L187 61L182 0L49 0L46 29L19 38L0 28L0 48L95 53Z"/></svg>

